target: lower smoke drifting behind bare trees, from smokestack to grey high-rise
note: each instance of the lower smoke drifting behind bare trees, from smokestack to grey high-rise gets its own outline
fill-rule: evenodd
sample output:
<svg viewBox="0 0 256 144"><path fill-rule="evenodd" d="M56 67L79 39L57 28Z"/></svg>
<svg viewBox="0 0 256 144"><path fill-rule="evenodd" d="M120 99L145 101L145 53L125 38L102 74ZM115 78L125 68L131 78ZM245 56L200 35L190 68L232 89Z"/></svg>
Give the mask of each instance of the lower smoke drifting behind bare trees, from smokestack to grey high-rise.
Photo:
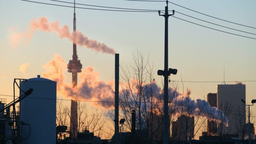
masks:
<svg viewBox="0 0 256 144"><path fill-rule="evenodd" d="M136 102L138 96L136 95L140 91L138 81L135 79L130 80L130 89L124 88L120 94L120 100L123 102L132 101ZM133 91L133 93L132 93ZM142 86L141 89L141 97L142 101L147 102L160 102L159 104L162 105L163 102L163 90L157 85L155 81L151 84L145 84ZM174 114L179 116L180 114L185 114L189 116L200 116L204 118L208 118L217 122L224 123L226 126L228 125L227 117L221 110L218 110L216 107L211 107L210 104L202 99L193 100L189 97L190 90L186 93L186 95L182 96L182 93L177 92L177 90L169 87L169 110L172 111ZM153 98L151 99L151 95ZM122 98L126 97L126 98ZM138 101L138 100L137 100ZM123 107L126 104L122 104ZM142 102L141 105L144 105ZM136 106L135 106L136 107Z"/></svg>

